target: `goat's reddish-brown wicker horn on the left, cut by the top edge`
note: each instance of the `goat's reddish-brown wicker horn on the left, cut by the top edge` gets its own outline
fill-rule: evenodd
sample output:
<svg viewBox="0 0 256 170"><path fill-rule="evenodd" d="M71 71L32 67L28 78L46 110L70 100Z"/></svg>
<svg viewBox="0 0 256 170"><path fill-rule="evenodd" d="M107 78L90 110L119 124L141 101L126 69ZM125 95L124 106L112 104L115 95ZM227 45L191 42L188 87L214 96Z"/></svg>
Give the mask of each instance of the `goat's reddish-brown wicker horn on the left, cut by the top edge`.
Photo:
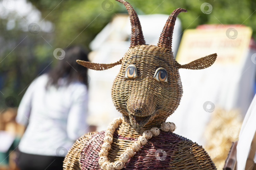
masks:
<svg viewBox="0 0 256 170"><path fill-rule="evenodd" d="M124 0L116 0L120 3L123 3L125 5L125 8L128 11L128 14L130 16L131 21L131 44L130 48L136 45L143 45L146 44L143 36L143 32L140 25L140 20L135 12L135 10L132 8L131 4L124 1Z"/></svg>

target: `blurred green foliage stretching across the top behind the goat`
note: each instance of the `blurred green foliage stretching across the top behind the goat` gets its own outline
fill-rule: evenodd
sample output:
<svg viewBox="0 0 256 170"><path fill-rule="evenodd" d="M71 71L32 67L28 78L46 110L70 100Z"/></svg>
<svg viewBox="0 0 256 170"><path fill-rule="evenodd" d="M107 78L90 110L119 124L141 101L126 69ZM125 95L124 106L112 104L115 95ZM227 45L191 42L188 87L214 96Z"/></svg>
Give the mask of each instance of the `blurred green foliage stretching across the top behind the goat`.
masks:
<svg viewBox="0 0 256 170"><path fill-rule="evenodd" d="M115 13L127 14L124 5L114 0L109 0L105 7L102 7L102 3L106 2L104 0L29 1L40 10L41 18L52 22L55 29L51 33L40 31L33 35L22 31L18 26L8 30L6 25L9 16L0 19L0 108L6 107L5 99L8 96L13 96L19 103L33 79L58 62L52 54L55 48L64 49L75 44L88 48L89 43L111 21ZM201 24L243 24L252 27L253 37L256 37L256 1L253 0L128 1L138 14L170 14L177 8L187 9L188 13L179 14L183 31ZM212 5L210 14L201 11L200 7L204 2Z"/></svg>

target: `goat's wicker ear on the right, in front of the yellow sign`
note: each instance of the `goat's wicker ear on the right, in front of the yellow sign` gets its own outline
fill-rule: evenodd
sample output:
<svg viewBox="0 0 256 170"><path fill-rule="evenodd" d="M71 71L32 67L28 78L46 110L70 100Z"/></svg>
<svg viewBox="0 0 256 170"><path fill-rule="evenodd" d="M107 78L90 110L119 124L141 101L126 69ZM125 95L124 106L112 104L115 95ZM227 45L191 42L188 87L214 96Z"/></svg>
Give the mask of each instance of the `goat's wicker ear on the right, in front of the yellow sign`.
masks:
<svg viewBox="0 0 256 170"><path fill-rule="evenodd" d="M191 70L200 70L205 69L207 67L210 67L216 60L217 54L210 54L205 57L202 57L200 59L196 59L188 64L180 65L178 62L178 68L185 68L185 69L191 69Z"/></svg>

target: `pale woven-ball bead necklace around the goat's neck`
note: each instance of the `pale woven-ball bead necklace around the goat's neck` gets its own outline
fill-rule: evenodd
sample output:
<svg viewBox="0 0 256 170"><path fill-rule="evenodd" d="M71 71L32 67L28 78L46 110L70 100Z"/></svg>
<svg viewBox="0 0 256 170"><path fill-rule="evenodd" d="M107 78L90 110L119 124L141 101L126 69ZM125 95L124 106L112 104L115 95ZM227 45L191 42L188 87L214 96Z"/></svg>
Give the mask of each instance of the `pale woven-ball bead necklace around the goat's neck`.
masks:
<svg viewBox="0 0 256 170"><path fill-rule="evenodd" d="M105 131L105 137L103 139L104 143L102 144L101 150L99 152L99 164L101 166L101 169L103 170L122 169L124 167L124 163L127 162L129 158L133 157L135 152L139 151L141 146L147 143L148 139L152 138L152 136L158 136L160 134L160 130L157 127L152 127L150 130L144 131L143 135L139 136L138 140L119 156L118 161L109 162L107 155L108 151L111 149L111 144L113 142L113 133L122 122L123 120L121 117L113 120L112 122L110 122L107 130ZM175 129L176 126L173 122L163 122L161 125L161 130L164 132L173 132Z"/></svg>

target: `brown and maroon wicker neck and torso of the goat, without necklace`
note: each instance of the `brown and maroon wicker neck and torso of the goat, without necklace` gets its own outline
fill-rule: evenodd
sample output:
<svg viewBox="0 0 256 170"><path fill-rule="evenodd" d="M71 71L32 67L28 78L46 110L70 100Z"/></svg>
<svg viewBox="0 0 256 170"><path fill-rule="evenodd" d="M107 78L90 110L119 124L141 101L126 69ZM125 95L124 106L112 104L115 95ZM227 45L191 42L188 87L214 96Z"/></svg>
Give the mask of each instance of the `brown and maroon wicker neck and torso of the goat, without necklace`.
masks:
<svg viewBox="0 0 256 170"><path fill-rule="evenodd" d="M147 129L144 127L142 130ZM124 121L113 134L108 158L111 162L137 140L140 131ZM100 169L98 153L105 132L88 134L76 141L64 161L64 170ZM164 155L165 154L165 155ZM68 157L68 158L67 158ZM79 162L79 166L78 166ZM76 165L76 166L74 166ZM163 132L149 139L141 150L125 163L124 169L216 169L206 151L191 140L175 133Z"/></svg>

